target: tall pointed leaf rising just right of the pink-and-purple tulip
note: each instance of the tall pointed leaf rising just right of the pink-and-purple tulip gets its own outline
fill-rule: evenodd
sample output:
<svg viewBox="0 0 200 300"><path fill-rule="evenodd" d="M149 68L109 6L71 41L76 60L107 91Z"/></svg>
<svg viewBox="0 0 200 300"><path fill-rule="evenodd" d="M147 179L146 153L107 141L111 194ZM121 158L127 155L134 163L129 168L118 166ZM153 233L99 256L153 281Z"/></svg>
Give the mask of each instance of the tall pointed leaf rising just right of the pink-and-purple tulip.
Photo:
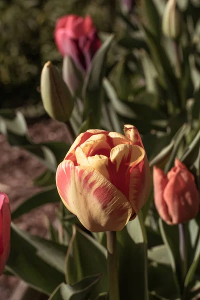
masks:
<svg viewBox="0 0 200 300"><path fill-rule="evenodd" d="M91 62L91 67L86 75L83 84L84 111L83 119L91 116L90 128L100 127L101 101L102 101L102 80L105 73L105 62L107 52L113 40L113 35L107 38L98 49Z"/></svg>

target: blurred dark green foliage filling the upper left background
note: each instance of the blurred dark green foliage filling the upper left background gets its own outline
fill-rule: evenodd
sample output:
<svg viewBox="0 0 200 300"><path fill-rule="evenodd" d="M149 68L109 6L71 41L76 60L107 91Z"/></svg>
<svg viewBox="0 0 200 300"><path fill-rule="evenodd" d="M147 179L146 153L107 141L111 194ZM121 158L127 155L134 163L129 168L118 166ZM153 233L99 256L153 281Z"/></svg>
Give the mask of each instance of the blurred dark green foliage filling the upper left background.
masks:
<svg viewBox="0 0 200 300"><path fill-rule="evenodd" d="M114 0L0 0L0 108L40 100L44 62L61 62L53 39L59 16L89 13L99 30L110 32L115 8Z"/></svg>

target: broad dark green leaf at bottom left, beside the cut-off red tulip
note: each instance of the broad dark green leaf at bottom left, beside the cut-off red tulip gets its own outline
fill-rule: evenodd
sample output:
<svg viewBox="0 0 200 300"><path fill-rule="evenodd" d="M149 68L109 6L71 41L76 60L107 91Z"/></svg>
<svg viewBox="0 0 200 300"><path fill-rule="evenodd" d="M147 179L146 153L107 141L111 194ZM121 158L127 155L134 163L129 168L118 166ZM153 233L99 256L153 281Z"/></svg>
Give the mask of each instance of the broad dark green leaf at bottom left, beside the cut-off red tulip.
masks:
<svg viewBox="0 0 200 300"><path fill-rule="evenodd" d="M6 268L48 295L64 281L64 274L42 259L38 249L24 238L24 233L14 224L11 224L11 248Z"/></svg>

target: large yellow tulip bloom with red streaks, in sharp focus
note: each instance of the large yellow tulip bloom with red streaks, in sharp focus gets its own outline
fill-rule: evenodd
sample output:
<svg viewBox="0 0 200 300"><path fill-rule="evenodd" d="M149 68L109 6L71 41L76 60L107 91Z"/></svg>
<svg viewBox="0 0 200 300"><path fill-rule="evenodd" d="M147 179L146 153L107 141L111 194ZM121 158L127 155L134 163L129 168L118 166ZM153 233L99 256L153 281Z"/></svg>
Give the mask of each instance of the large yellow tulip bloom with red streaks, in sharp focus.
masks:
<svg viewBox="0 0 200 300"><path fill-rule="evenodd" d="M125 135L80 133L56 171L58 193L90 231L117 231L135 218L150 189L150 170L137 129Z"/></svg>

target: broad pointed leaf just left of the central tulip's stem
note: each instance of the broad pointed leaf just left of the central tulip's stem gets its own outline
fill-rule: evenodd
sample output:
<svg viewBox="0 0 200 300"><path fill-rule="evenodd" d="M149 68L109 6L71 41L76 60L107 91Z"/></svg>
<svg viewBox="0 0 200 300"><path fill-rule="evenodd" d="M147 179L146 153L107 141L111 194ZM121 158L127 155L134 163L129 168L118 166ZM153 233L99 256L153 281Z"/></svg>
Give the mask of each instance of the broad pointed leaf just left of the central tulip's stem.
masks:
<svg viewBox="0 0 200 300"><path fill-rule="evenodd" d="M98 293L108 289L106 249L92 236L74 225L73 228L66 257L67 282L74 284L85 276L102 273L102 278L91 295L91 299L94 299Z"/></svg>

